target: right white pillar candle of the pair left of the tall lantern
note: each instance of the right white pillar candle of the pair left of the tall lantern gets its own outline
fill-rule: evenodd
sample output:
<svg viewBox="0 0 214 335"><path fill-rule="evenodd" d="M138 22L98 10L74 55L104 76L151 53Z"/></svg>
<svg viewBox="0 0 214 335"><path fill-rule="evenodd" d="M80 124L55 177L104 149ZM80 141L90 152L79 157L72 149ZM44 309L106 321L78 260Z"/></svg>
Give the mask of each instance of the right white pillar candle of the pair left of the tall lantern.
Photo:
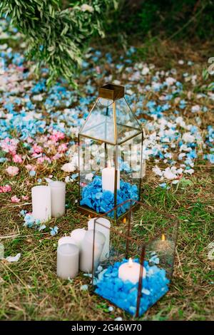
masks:
<svg viewBox="0 0 214 335"><path fill-rule="evenodd" d="M66 207L66 183L49 182L51 187L51 216L61 217L65 214Z"/></svg>

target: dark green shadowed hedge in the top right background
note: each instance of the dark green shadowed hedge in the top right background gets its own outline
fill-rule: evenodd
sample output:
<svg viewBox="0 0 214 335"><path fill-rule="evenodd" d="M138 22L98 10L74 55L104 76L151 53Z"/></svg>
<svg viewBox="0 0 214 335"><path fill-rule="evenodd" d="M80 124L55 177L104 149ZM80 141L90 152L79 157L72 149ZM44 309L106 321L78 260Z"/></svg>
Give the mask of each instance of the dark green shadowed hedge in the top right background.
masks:
<svg viewBox="0 0 214 335"><path fill-rule="evenodd" d="M213 0L120 0L112 11L112 24L106 34L131 36L145 42L145 37L213 37Z"/></svg>

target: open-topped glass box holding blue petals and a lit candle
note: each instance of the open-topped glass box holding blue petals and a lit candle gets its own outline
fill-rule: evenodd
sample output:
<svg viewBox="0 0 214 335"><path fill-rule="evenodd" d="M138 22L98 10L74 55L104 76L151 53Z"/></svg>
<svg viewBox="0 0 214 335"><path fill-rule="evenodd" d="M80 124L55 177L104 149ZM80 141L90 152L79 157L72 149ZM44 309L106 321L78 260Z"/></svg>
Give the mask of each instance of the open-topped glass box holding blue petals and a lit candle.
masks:
<svg viewBox="0 0 214 335"><path fill-rule="evenodd" d="M106 215L89 220L91 273L96 294L138 317L170 289L178 220L142 202L128 202L127 220L120 225L109 217L106 225ZM98 253L101 236L107 245Z"/></svg>

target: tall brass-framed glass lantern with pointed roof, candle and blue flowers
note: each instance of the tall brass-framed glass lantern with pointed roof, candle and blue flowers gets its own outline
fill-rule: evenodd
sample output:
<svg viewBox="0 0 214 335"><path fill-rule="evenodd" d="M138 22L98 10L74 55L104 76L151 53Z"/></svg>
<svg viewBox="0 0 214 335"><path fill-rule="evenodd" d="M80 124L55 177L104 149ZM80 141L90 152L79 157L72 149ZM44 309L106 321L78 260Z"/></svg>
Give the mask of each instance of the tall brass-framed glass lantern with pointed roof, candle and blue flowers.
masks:
<svg viewBox="0 0 214 335"><path fill-rule="evenodd" d="M94 217L126 215L128 199L141 199L143 130L124 96L106 84L78 134L78 209ZM117 210L117 205L124 203Z"/></svg>

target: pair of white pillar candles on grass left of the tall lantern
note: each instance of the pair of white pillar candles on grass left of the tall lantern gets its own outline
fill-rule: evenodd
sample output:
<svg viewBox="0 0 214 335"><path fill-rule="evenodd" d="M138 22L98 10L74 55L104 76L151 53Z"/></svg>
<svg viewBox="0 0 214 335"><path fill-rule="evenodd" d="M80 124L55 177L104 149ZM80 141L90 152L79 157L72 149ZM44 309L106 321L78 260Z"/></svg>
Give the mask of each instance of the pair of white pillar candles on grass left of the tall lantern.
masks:
<svg viewBox="0 0 214 335"><path fill-rule="evenodd" d="M49 186L39 185L32 187L32 215L34 220L45 222L52 217L61 217L65 214L66 183L53 181Z"/></svg>

